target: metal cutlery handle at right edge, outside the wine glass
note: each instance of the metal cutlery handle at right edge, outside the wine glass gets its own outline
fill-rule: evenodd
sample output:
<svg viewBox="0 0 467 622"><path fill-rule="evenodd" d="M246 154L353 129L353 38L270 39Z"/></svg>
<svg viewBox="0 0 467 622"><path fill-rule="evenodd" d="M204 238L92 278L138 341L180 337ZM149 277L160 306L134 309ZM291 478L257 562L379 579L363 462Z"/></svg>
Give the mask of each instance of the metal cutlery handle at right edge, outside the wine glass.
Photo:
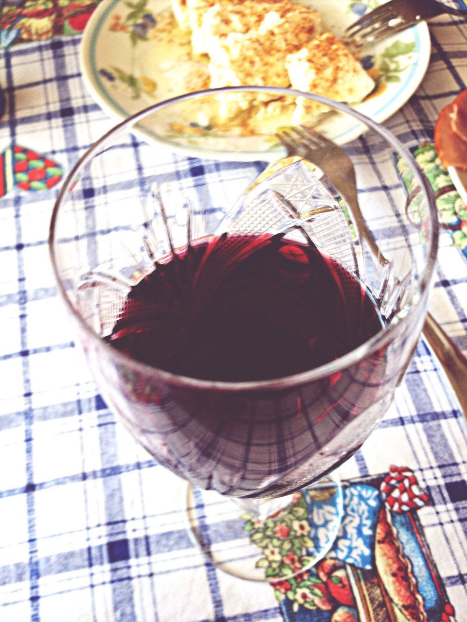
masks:
<svg viewBox="0 0 467 622"><path fill-rule="evenodd" d="M430 313L423 326L423 336L440 360L467 419L467 358Z"/></svg>

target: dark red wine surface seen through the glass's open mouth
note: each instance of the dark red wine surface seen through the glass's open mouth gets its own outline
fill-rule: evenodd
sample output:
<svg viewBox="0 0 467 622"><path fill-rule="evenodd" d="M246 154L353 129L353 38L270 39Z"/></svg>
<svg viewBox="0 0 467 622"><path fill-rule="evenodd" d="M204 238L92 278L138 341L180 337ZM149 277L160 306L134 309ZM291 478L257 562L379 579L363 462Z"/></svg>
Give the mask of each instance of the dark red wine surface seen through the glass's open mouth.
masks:
<svg viewBox="0 0 467 622"><path fill-rule="evenodd" d="M260 381L328 363L380 328L359 281L311 243L235 235L158 265L131 290L110 341L183 376Z"/></svg>

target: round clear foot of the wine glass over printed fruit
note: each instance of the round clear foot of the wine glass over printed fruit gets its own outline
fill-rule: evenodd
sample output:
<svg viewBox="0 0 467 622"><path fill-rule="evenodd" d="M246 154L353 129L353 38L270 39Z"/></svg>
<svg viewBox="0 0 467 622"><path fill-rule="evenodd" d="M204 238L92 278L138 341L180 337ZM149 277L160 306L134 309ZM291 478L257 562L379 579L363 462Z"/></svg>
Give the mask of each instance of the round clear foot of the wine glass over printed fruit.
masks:
<svg viewBox="0 0 467 622"><path fill-rule="evenodd" d="M342 505L333 473L279 499L234 499L189 485L188 531L220 570L250 581L283 581L329 552Z"/></svg>

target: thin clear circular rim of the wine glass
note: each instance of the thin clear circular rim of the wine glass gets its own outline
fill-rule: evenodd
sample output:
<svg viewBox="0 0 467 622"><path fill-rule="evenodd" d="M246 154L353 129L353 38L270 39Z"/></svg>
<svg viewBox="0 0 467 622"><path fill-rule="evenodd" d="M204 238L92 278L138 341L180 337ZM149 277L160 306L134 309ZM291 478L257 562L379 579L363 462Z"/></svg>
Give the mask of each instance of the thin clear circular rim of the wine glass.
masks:
<svg viewBox="0 0 467 622"><path fill-rule="evenodd" d="M402 156L405 160L407 160L410 165L410 169L412 173L415 175L418 184L420 185L420 189L424 193L427 198L429 215L432 224L431 234L427 239L427 244L429 246L429 252L427 253L426 265L423 269L422 275L420 279L418 279L418 292L419 297L415 302L409 302L407 304L408 312L400 317L396 323L393 323L390 326L382 327L379 332L376 333L369 340L365 341L361 345L357 346L353 350L347 352L346 354L340 356L334 361L329 361L329 363L325 363L319 367L309 369L307 371L301 371L300 373L291 374L290 376L283 376L281 378L271 378L266 380L259 381L218 381L218 380L207 380L194 378L192 376L183 376L182 374L174 374L172 372L166 371L161 368L157 368L151 366L147 363L142 363L131 356L125 355L125 353L114 348L110 343L103 340L88 324L83 320L80 313L73 306L70 298L67 295L65 287L62 283L62 279L59 275L59 269L57 267L57 261L55 258L55 225L57 223L57 218L59 215L60 205L64 202L64 199L68 192L70 192L73 183L77 179L80 170L85 167L85 165L92 159L97 151L106 145L106 142L110 141L114 136L118 136L121 132L128 129L131 131L131 127L138 123L139 120L148 116L149 114L157 112L159 109L168 108L172 104L180 103L186 100L192 100L196 98L200 98L206 95L216 95L220 93L235 93L235 92L270 92L276 93L278 95L293 95L297 97L304 97L311 101L318 101L319 103L326 104L327 106L337 109L342 113L349 114L353 116L358 121L361 121L367 128L370 128L377 132L380 136L382 136L389 144ZM205 390L218 390L223 392L244 392L244 391L264 391L265 389L287 389L293 388L294 386L316 381L336 372L342 371L357 361L361 360L367 355L370 355L373 351L379 349L383 346L387 341L392 338L392 334L395 330L399 330L398 327L400 325L408 322L408 319L413 315L416 309L423 304L425 297L428 294L428 290L430 287L430 283L432 281L433 272L436 264L436 255L438 253L438 235L439 235L439 225L438 225L438 212L435 204L435 197L432 192L432 188L429 185L428 180L425 175L423 175L422 170L418 166L415 158L412 156L410 151L408 151L407 147L403 146L402 142L397 139L397 137L392 134L389 130L385 129L384 126L380 125L376 121L373 121L366 115L360 113L359 111L351 108L347 104L343 104L341 102L337 102L334 100L330 100L321 95L313 95L312 93L304 93L303 91L294 90L291 88L281 87L281 86L223 86L214 89L205 89L202 91L194 91L192 93L185 93L184 95L179 95L168 100L164 100L158 102L156 104L152 104L147 108L139 111L120 121L113 128L105 132L97 141L95 141L92 146L88 147L87 151L77 160L75 165L73 165L72 169L68 173L62 187L59 190L59 194L57 195L57 199L55 200L54 207L52 208L52 215L50 217L50 225L49 225L49 238L48 238L48 246L49 246L49 254L50 261L52 263L52 270L54 272L55 282L57 283L60 296L65 302L67 309L71 312L72 317L77 320L79 327L84 330L85 333L100 347L106 348L106 351L114 358L116 361L122 364L130 364L130 366L134 369L141 371L146 375L156 375L161 378L166 383L170 383L176 386L184 386L186 388L198 388ZM413 300L413 298L412 298Z"/></svg>

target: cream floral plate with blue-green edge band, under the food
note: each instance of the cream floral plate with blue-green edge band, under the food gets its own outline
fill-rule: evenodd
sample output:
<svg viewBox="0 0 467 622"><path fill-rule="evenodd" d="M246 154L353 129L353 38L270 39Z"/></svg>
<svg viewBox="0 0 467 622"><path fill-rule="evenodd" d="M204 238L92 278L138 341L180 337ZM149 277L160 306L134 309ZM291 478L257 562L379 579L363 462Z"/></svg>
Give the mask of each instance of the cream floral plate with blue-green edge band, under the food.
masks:
<svg viewBox="0 0 467 622"><path fill-rule="evenodd" d="M323 11L322 0L301 0ZM339 37L374 0L327 0L325 26ZM330 18L329 16L332 16ZM119 121L151 104L198 90L206 72L189 58L189 37L174 26L170 0L104 0L93 13L82 39L83 78L95 101ZM425 22L366 50L362 65L377 81L374 93L354 108L374 121L394 114L417 89L428 67L430 34ZM186 106L139 125L146 139L194 157L220 160L268 160L283 155L273 131L258 128L249 136L237 128L219 131L199 123ZM275 119L275 127L278 126ZM340 144L359 136L358 121L330 118L319 130Z"/></svg>

